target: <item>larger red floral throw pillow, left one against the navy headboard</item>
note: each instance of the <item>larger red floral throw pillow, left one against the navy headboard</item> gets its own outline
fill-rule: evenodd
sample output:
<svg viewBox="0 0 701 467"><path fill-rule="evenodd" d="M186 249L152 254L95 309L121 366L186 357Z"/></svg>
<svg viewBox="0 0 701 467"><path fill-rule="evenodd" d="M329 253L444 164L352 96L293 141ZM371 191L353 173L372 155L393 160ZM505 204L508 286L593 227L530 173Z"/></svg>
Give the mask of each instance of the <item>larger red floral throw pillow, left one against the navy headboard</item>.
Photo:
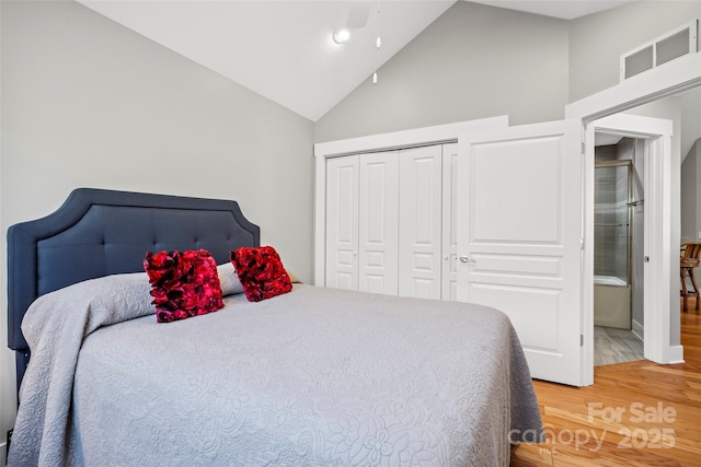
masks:
<svg viewBox="0 0 701 467"><path fill-rule="evenodd" d="M143 269L159 323L205 315L223 307L217 262L206 249L149 252Z"/></svg>

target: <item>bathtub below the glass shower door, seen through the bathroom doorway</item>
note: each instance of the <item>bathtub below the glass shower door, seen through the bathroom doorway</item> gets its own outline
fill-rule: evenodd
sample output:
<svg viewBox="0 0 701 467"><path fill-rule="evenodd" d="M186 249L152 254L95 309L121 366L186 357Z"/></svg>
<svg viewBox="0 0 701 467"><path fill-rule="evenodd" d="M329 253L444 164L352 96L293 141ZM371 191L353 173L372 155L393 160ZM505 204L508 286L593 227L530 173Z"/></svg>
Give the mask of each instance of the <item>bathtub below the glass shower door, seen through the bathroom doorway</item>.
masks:
<svg viewBox="0 0 701 467"><path fill-rule="evenodd" d="M614 276L594 276L594 325L631 329L631 287Z"/></svg>

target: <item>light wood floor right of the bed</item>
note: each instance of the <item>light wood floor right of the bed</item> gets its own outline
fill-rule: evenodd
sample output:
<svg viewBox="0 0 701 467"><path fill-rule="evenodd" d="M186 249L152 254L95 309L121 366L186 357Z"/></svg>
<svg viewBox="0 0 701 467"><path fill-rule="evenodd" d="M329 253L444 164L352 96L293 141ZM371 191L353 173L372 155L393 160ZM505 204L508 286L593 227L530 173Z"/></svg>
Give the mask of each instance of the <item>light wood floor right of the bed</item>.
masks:
<svg viewBox="0 0 701 467"><path fill-rule="evenodd" d="M512 467L701 466L701 314L681 313L685 363L596 366L594 385L535 381L547 432Z"/></svg>

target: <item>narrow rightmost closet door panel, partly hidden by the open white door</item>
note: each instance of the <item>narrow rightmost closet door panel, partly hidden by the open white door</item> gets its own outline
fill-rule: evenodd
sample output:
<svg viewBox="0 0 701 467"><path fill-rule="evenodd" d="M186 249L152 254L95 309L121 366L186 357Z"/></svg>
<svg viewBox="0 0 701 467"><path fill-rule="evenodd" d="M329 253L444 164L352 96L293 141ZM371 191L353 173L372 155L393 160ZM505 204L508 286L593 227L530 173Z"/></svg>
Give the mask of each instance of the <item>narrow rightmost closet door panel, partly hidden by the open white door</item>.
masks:
<svg viewBox="0 0 701 467"><path fill-rule="evenodd" d="M443 145L443 300L458 300L458 143Z"/></svg>

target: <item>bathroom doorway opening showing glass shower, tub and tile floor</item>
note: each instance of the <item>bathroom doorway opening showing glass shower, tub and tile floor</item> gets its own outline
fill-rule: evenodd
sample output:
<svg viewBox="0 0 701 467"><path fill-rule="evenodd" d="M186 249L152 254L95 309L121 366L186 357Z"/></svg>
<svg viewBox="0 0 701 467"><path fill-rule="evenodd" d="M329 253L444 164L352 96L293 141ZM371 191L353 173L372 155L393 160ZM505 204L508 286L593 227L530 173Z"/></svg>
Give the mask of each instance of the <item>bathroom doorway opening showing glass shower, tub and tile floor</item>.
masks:
<svg viewBox="0 0 701 467"><path fill-rule="evenodd" d="M642 141L598 135L595 150L594 364L643 359Z"/></svg>

